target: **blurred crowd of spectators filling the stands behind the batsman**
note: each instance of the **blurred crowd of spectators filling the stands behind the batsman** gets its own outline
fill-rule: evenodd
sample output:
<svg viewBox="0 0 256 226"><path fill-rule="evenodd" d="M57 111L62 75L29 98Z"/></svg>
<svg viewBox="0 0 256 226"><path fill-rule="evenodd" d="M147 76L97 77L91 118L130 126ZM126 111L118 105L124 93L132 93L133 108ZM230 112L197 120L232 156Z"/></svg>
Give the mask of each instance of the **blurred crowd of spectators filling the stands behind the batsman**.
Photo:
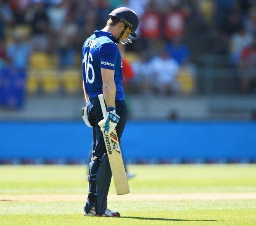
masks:
<svg viewBox="0 0 256 226"><path fill-rule="evenodd" d="M194 59L206 53L230 56L242 91L255 88L255 0L0 0L0 68L28 71L36 53L55 56L57 70L81 67L84 40L120 6L140 19L123 53L135 75L127 92L193 93Z"/></svg>

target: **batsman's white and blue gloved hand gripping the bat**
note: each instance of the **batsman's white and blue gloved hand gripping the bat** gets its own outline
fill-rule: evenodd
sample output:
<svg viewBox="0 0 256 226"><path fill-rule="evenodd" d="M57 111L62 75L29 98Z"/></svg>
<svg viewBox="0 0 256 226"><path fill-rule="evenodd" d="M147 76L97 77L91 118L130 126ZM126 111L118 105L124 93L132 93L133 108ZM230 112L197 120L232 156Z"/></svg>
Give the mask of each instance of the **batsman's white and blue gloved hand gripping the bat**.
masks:
<svg viewBox="0 0 256 226"><path fill-rule="evenodd" d="M106 135L110 134L117 126L119 118L114 107L107 107L107 115L98 123L100 130Z"/></svg>

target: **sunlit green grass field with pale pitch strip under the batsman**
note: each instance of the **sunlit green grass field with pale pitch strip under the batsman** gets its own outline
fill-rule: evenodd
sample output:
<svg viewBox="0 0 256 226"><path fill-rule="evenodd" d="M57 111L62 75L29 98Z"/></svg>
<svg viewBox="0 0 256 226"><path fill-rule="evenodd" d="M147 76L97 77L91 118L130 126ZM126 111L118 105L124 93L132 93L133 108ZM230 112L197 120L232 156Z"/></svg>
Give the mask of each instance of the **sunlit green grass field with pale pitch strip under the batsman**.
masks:
<svg viewBox="0 0 256 226"><path fill-rule="evenodd" d="M256 165L130 166L131 194L85 217L85 166L0 166L0 225L256 225Z"/></svg>

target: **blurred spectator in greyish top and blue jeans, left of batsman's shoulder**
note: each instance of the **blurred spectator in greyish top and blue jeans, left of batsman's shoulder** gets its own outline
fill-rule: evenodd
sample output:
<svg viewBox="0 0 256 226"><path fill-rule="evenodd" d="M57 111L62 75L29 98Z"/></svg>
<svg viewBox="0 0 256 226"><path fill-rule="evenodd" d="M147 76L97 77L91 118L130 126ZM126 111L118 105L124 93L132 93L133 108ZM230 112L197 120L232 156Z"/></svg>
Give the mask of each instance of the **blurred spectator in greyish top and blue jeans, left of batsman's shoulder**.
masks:
<svg viewBox="0 0 256 226"><path fill-rule="evenodd" d="M73 66L75 63L75 43L78 26L73 14L66 16L65 25L58 32L58 59L61 68Z"/></svg>

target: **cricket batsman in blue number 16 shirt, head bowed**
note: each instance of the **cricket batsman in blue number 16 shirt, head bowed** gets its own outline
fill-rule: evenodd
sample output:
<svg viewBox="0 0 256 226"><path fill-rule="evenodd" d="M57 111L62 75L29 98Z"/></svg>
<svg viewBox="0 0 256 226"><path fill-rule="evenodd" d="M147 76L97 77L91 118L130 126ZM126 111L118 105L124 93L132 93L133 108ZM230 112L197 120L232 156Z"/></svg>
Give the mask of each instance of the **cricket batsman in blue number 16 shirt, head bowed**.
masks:
<svg viewBox="0 0 256 226"><path fill-rule="evenodd" d="M116 129L120 140L126 123L126 103L122 85L122 57L117 45L131 43L137 37L139 19L126 7L113 10L107 25L86 39L82 48L82 73L86 107L82 116L92 127L93 147L87 180L89 194L84 216L117 217L120 213L107 209L107 195L112 177L102 131ZM98 95L104 95L107 115L103 116ZM104 119L102 119L104 118Z"/></svg>

